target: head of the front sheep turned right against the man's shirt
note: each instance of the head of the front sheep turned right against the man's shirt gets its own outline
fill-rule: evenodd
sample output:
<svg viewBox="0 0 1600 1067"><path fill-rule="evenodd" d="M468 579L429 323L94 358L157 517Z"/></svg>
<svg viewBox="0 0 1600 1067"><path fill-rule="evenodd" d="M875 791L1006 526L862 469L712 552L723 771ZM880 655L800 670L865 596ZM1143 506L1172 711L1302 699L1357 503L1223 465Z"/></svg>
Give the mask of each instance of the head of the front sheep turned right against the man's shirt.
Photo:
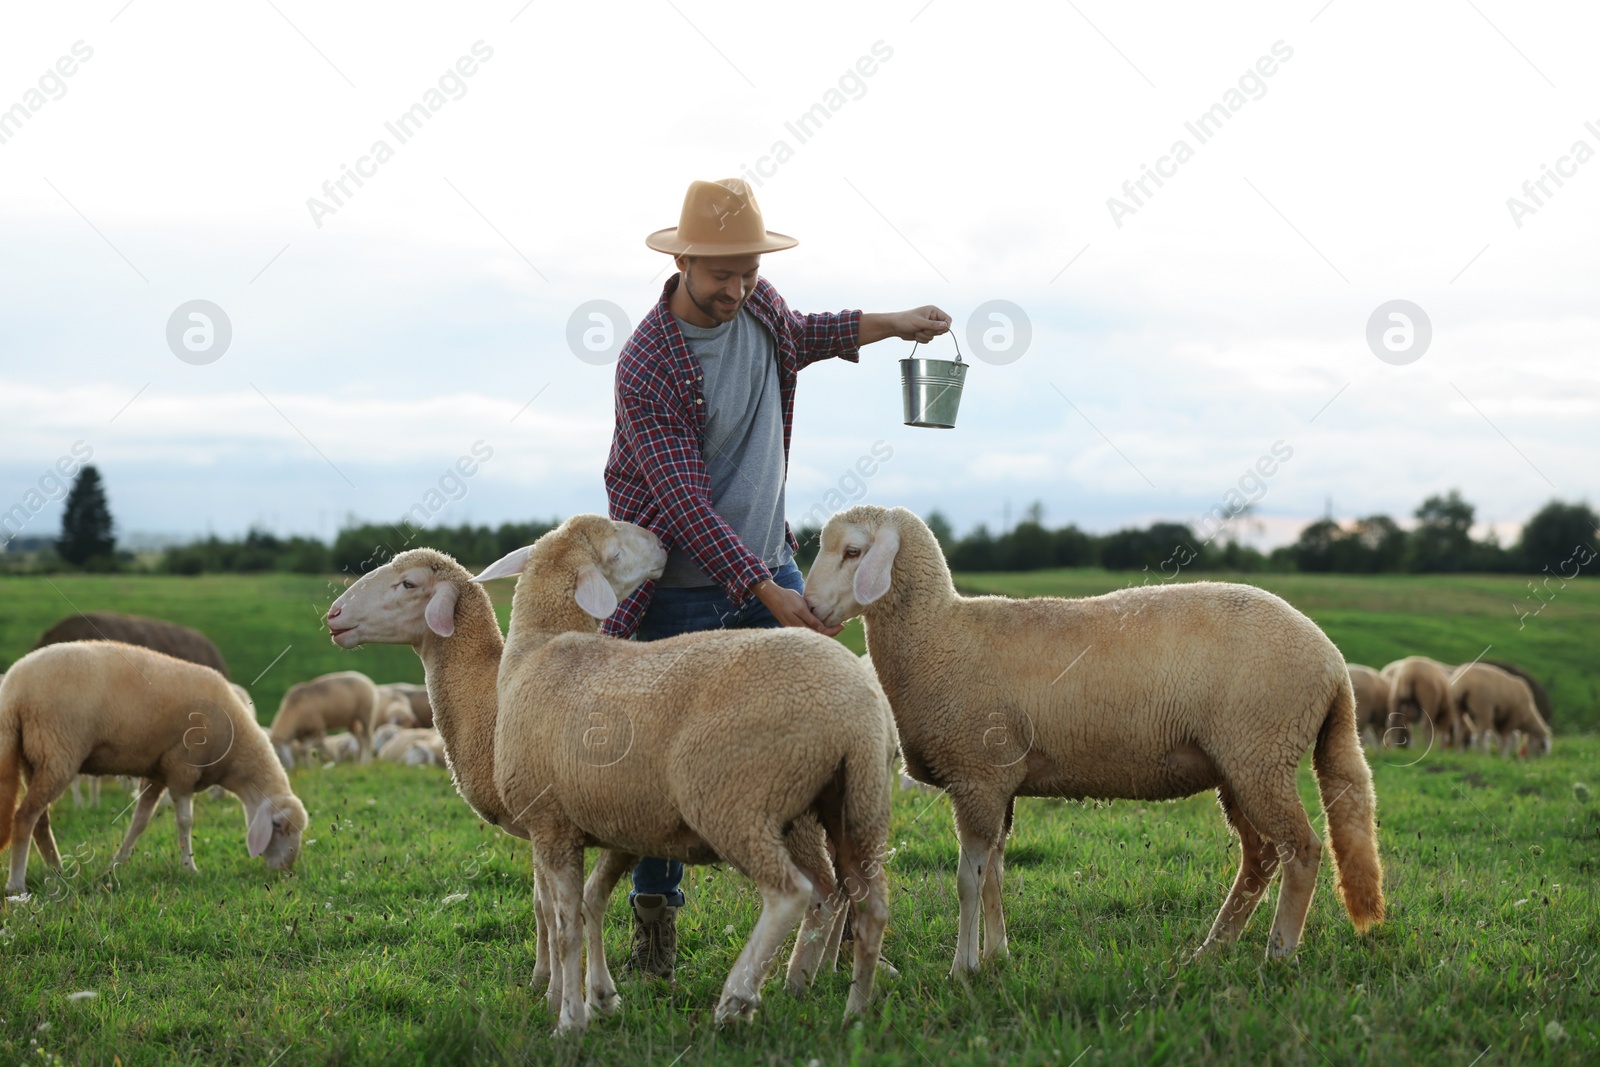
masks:
<svg viewBox="0 0 1600 1067"><path fill-rule="evenodd" d="M541 629L565 629L558 616L566 603L576 603L594 619L606 619L624 597L661 577L666 563L667 550L661 539L643 526L603 515L573 515L531 545L496 560L472 581L515 574L512 625L518 616L526 619L531 614ZM555 584L557 601L541 600L531 592L546 589L546 582ZM530 590L526 595L525 589Z"/></svg>

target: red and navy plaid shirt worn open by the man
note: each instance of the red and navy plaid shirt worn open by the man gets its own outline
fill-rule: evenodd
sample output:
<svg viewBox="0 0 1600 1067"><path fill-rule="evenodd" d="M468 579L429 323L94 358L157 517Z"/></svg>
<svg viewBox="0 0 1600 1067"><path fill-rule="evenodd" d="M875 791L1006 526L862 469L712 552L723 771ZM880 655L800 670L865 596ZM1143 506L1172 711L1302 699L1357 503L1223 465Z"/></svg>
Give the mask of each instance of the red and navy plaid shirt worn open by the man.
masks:
<svg viewBox="0 0 1600 1067"><path fill-rule="evenodd" d="M706 395L699 360L683 342L669 307L680 275L667 278L661 301L634 330L616 363L616 432L605 464L611 518L637 523L670 549L678 547L739 605L771 571L710 506L710 478L701 446ZM744 304L778 339L778 394L784 408L784 467L794 426L795 376L818 360L856 362L861 312L802 315L789 310L766 278ZM784 525L784 539L798 550ZM605 621L603 632L629 637L645 616L654 582L645 582Z"/></svg>

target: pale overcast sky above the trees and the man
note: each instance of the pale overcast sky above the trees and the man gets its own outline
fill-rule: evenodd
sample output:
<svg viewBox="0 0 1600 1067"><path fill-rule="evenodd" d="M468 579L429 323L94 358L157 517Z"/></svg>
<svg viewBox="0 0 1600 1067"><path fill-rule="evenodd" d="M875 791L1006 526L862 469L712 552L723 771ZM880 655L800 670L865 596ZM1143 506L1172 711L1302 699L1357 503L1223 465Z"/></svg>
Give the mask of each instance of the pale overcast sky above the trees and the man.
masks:
<svg viewBox="0 0 1600 1067"><path fill-rule="evenodd" d="M482 442L434 522L603 512L613 366L570 320L626 334L643 237L744 173L792 307L933 302L973 365L955 430L901 424L907 342L806 370L795 518L875 442L864 499L958 530L1195 518L1275 445L1267 544L1448 488L1506 536L1600 499L1592 5L1218 6L13 6L0 509L83 442L123 534L331 536ZM195 299L208 363L168 344ZM1390 301L1430 326L1418 357L1382 318L1405 363Z"/></svg>

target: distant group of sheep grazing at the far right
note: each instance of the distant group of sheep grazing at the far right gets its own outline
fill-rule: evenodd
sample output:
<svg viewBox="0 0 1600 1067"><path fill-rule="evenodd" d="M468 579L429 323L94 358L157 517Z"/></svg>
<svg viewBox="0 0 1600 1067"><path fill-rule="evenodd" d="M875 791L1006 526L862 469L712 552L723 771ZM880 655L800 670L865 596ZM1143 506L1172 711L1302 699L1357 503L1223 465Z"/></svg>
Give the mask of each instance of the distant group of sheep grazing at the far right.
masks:
<svg viewBox="0 0 1600 1067"><path fill-rule="evenodd" d="M1536 755L1550 752L1550 697L1522 667L1472 661L1450 667L1427 656L1406 656L1373 670L1350 664L1357 718L1368 745L1395 747L1416 741L1432 747L1480 747L1499 739L1510 755L1522 737Z"/></svg>

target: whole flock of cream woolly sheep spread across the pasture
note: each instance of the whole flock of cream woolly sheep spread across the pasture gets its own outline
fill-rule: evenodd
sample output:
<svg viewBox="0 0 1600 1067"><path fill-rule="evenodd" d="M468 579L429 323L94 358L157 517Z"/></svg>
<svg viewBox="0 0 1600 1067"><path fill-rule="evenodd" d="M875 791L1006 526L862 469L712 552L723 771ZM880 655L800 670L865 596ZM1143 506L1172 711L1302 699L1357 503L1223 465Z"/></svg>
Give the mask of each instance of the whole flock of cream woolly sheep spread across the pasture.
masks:
<svg viewBox="0 0 1600 1067"><path fill-rule="evenodd" d="M410 645L426 691L326 675L290 689L270 731L219 669L115 640L35 649L0 683L6 891L26 888L29 840L59 867L50 803L80 773L144 779L117 862L165 789L192 867L190 797L221 785L243 803L250 854L288 867L307 814L285 768L333 745L326 734L339 728L357 758L379 731L398 731L378 747L384 758L427 717L461 797L531 845L534 981L549 982L558 1032L621 1008L600 921L640 856L725 862L760 889L718 1024L752 1016L797 928L789 989L803 993L834 968L846 910L845 1016L862 1013L888 923L896 760L947 790L955 811L954 974L1006 955L1003 848L1016 797L1030 795L1166 800L1214 789L1242 862L1197 952L1234 941L1282 869L1267 955L1290 955L1323 851L1296 792L1307 750L1339 899L1357 931L1382 921L1360 736L1379 697L1363 688L1365 669L1347 669L1278 597L1221 582L1077 600L962 597L917 515L858 506L829 520L805 595L826 624L864 619L866 657L802 629L602 635L600 621L664 561L654 534L598 515L566 520L478 576L432 549L402 552L354 582L326 625L342 648ZM517 579L504 637L482 585L498 577ZM1416 704L1405 721L1547 739L1522 712L1501 717L1474 665L1456 672L1454 689L1446 678L1446 696L1461 696L1445 704L1462 713L1443 718L1411 662L1371 672L1389 683L1381 736ZM602 853L584 881L587 848Z"/></svg>

